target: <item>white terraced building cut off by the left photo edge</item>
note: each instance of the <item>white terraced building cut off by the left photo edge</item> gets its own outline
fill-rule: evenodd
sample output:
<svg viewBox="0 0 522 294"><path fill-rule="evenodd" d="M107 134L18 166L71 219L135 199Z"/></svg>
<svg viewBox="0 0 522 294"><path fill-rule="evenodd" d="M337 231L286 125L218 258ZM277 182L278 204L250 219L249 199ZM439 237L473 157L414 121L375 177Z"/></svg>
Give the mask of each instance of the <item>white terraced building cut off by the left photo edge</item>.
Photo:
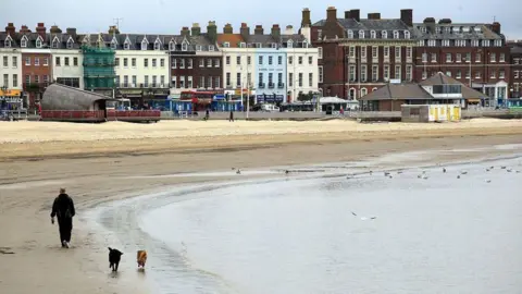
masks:
<svg viewBox="0 0 522 294"><path fill-rule="evenodd" d="M0 109L13 109L22 100L22 52L13 23L0 33Z"/></svg>

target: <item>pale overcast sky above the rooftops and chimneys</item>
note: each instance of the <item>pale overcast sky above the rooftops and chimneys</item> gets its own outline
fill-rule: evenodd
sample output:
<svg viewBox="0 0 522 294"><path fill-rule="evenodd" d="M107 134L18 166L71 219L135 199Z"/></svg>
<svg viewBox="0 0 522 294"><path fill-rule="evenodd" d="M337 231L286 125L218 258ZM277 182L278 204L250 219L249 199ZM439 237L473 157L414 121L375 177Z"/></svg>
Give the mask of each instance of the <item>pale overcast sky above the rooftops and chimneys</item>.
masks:
<svg viewBox="0 0 522 294"><path fill-rule="evenodd" d="M492 23L496 17L508 38L522 38L520 0L0 0L0 2L2 30L8 22L14 22L17 29L23 24L34 29L38 22L44 22L48 28L57 24L62 29L76 27L78 33L98 33L107 32L114 23L113 19L119 17L123 19L120 23L122 33L178 34L183 26L200 23L206 27L208 21L217 22L219 33L222 33L225 23L231 23L236 30L241 22L248 23L251 28L256 24L262 24L268 32L272 24L279 24L282 27L291 24L298 27L302 8L310 8L312 22L315 22L325 19L326 8L334 5L337 8L338 17L344 17L344 11L350 9L360 9L361 17L371 12L381 12L383 19L398 19L400 9L413 9L414 22L433 16L436 20L449 17L453 22ZM192 11L195 8L197 11Z"/></svg>

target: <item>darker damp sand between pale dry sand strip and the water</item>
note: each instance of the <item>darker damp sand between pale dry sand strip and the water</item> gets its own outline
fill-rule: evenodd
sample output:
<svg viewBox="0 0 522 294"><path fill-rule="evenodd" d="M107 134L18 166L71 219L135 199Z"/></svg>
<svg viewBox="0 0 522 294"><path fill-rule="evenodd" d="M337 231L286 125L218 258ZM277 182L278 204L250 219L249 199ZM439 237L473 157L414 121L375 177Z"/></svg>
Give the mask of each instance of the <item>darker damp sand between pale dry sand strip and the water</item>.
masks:
<svg viewBox="0 0 522 294"><path fill-rule="evenodd" d="M374 134L373 139L368 139L363 133L359 133L359 139L347 139L346 136L339 135L336 137L338 140L323 140L316 134L291 135L286 140L276 136L271 140L271 135L265 135L266 137L262 140L251 135L244 136L243 140L216 136L207 143L209 148L207 150L212 151L183 152L176 149L163 154L136 155L128 150L129 154L126 155L107 152L109 157L92 158L69 158L63 156L69 145L54 143L54 149L42 152L54 154L54 158L5 160L4 157L2 158L4 161L0 159L0 170L3 171L0 173L0 229L3 232L0 247L9 247L14 254L0 255L4 261L0 262L0 270L4 273L0 277L0 292L151 293L145 285L146 279L138 280L134 271L122 271L117 279L111 277L107 265L107 246L111 245L111 240L104 240L88 228L83 220L85 211L100 204L110 205L110 201L135 197L144 191L158 191L172 185L237 180L235 174L217 179L178 176L137 180L132 176L225 171L231 167L249 170L274 166L338 163L374 159L383 154L391 155L401 151L522 144L522 136L519 135L522 130L519 128L521 127L504 130L505 135L495 135L493 131L497 128L485 132L484 130L461 131L458 135L453 134L451 138L444 135L449 130L443 130L438 133L438 137L423 137L424 131L412 132L406 138L393 134L386 135L383 134L384 131L380 131L378 134ZM508 132L511 133L506 134ZM380 136L389 139L380 139ZM307 139L301 139L302 137ZM148 146L147 144L152 145L156 142L145 144ZM173 143L172 139L165 139L165 142L162 147ZM190 139L189 142L200 143ZM212 149L211 145L215 142L222 145L217 144L214 146L216 149ZM264 143L263 146L266 147L257 147L260 143ZM82 144L77 145L79 145L78 148L82 147ZM227 148L220 148L223 145ZM91 145L84 146L84 149L88 149L89 146ZM199 146L196 144L188 147L197 149L196 147ZM170 149L173 149L172 146ZM60 150L62 150L61 155L58 152ZM476 154L448 152L436 156L438 158L436 161L447 162L475 158L485 154L493 156L511 152L512 150L509 149L482 150ZM38 157L38 155L35 156ZM394 167L402 162L400 158L391 157L388 161L378 164ZM73 247L66 252L59 247L58 228L51 225L49 220L50 205L61 186L67 188L78 210L73 229ZM124 258L125 264L134 264L134 253L125 255ZM62 283L61 289L54 286L55 283Z"/></svg>

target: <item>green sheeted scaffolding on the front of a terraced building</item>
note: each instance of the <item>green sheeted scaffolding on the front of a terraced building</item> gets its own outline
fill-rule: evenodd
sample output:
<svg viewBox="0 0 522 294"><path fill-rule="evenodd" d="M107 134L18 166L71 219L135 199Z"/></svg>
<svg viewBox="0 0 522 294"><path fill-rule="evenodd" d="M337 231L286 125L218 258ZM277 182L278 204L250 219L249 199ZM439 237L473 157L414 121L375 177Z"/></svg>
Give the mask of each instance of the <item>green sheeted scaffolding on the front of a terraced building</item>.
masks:
<svg viewBox="0 0 522 294"><path fill-rule="evenodd" d="M114 87L114 56L111 48L83 46L85 89Z"/></svg>

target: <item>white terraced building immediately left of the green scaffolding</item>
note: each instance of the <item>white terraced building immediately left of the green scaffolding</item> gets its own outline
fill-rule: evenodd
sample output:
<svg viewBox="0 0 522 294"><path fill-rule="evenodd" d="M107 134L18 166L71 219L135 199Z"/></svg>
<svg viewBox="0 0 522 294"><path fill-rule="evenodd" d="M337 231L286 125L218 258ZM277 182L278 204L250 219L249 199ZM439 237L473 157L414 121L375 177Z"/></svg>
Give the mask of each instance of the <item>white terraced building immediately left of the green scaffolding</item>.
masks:
<svg viewBox="0 0 522 294"><path fill-rule="evenodd" d="M84 54L78 41L76 28L66 33L53 25L50 29L50 49L52 54L52 79L74 88L84 88Z"/></svg>

